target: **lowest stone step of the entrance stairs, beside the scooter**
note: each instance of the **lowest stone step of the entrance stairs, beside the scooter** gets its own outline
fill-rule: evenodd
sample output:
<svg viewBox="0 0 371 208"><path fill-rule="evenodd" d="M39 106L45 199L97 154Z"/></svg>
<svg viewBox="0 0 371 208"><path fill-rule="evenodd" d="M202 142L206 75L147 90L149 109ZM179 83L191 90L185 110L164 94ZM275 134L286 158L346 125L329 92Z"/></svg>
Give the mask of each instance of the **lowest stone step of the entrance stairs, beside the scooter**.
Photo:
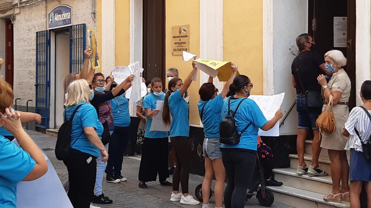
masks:
<svg viewBox="0 0 371 208"><path fill-rule="evenodd" d="M349 202L325 202L324 194L319 194L290 186L269 186L273 191L275 202L296 208L350 208Z"/></svg>

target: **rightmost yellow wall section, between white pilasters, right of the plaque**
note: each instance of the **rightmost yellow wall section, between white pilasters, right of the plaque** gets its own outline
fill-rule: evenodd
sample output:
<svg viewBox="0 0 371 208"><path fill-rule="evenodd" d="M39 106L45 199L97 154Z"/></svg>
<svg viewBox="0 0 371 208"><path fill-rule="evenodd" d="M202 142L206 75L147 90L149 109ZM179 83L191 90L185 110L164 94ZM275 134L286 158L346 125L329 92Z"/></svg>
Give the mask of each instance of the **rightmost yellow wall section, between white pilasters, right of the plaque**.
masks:
<svg viewBox="0 0 371 208"><path fill-rule="evenodd" d="M262 0L223 1L223 60L251 79L252 94L263 95Z"/></svg>

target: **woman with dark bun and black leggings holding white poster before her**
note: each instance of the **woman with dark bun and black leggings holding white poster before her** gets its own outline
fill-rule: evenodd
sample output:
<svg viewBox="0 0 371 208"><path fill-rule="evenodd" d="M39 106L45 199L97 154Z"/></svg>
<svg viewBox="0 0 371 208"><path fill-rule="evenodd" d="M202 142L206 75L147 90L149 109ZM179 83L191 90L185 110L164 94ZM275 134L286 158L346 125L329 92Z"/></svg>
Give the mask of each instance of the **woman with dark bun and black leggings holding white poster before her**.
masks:
<svg viewBox="0 0 371 208"><path fill-rule="evenodd" d="M252 88L253 84L249 77L239 75L234 78L233 83L229 86L229 91L234 95L224 100L221 109L222 119L230 115L229 110L236 112L234 121L237 132L240 134L240 141L237 144L221 144L221 155L228 179L224 191L226 208L244 207L247 186L250 184L255 170L259 128L267 131L282 118L282 111L278 109L275 117L267 121L255 101L247 99ZM222 133L220 132L221 137L223 137Z"/></svg>

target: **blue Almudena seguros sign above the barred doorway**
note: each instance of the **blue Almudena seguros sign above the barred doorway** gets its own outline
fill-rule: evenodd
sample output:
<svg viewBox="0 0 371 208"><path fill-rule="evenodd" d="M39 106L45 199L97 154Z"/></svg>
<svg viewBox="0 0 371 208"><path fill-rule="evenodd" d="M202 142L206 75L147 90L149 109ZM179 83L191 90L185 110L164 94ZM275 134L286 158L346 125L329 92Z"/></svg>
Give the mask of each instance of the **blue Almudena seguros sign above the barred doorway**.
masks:
<svg viewBox="0 0 371 208"><path fill-rule="evenodd" d="M72 7L59 5L49 12L49 30L72 25Z"/></svg>

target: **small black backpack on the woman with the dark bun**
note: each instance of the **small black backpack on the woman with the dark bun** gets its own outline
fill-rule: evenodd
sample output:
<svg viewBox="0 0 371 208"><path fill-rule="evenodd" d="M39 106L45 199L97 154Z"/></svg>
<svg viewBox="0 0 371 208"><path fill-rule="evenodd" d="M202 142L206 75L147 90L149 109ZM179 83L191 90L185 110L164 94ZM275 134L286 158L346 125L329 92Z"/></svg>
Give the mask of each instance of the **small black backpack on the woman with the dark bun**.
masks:
<svg viewBox="0 0 371 208"><path fill-rule="evenodd" d="M219 134L220 134L220 143L226 144L226 145L236 145L240 143L240 137L244 131L250 126L251 123L249 123L242 131L241 133L237 132L237 126L236 121L234 120L234 115L236 115L237 109L240 107L243 100L246 100L247 98L242 99L238 105L236 110L230 110L230 102L231 98L228 100L228 113L227 116L221 120L219 124Z"/></svg>

